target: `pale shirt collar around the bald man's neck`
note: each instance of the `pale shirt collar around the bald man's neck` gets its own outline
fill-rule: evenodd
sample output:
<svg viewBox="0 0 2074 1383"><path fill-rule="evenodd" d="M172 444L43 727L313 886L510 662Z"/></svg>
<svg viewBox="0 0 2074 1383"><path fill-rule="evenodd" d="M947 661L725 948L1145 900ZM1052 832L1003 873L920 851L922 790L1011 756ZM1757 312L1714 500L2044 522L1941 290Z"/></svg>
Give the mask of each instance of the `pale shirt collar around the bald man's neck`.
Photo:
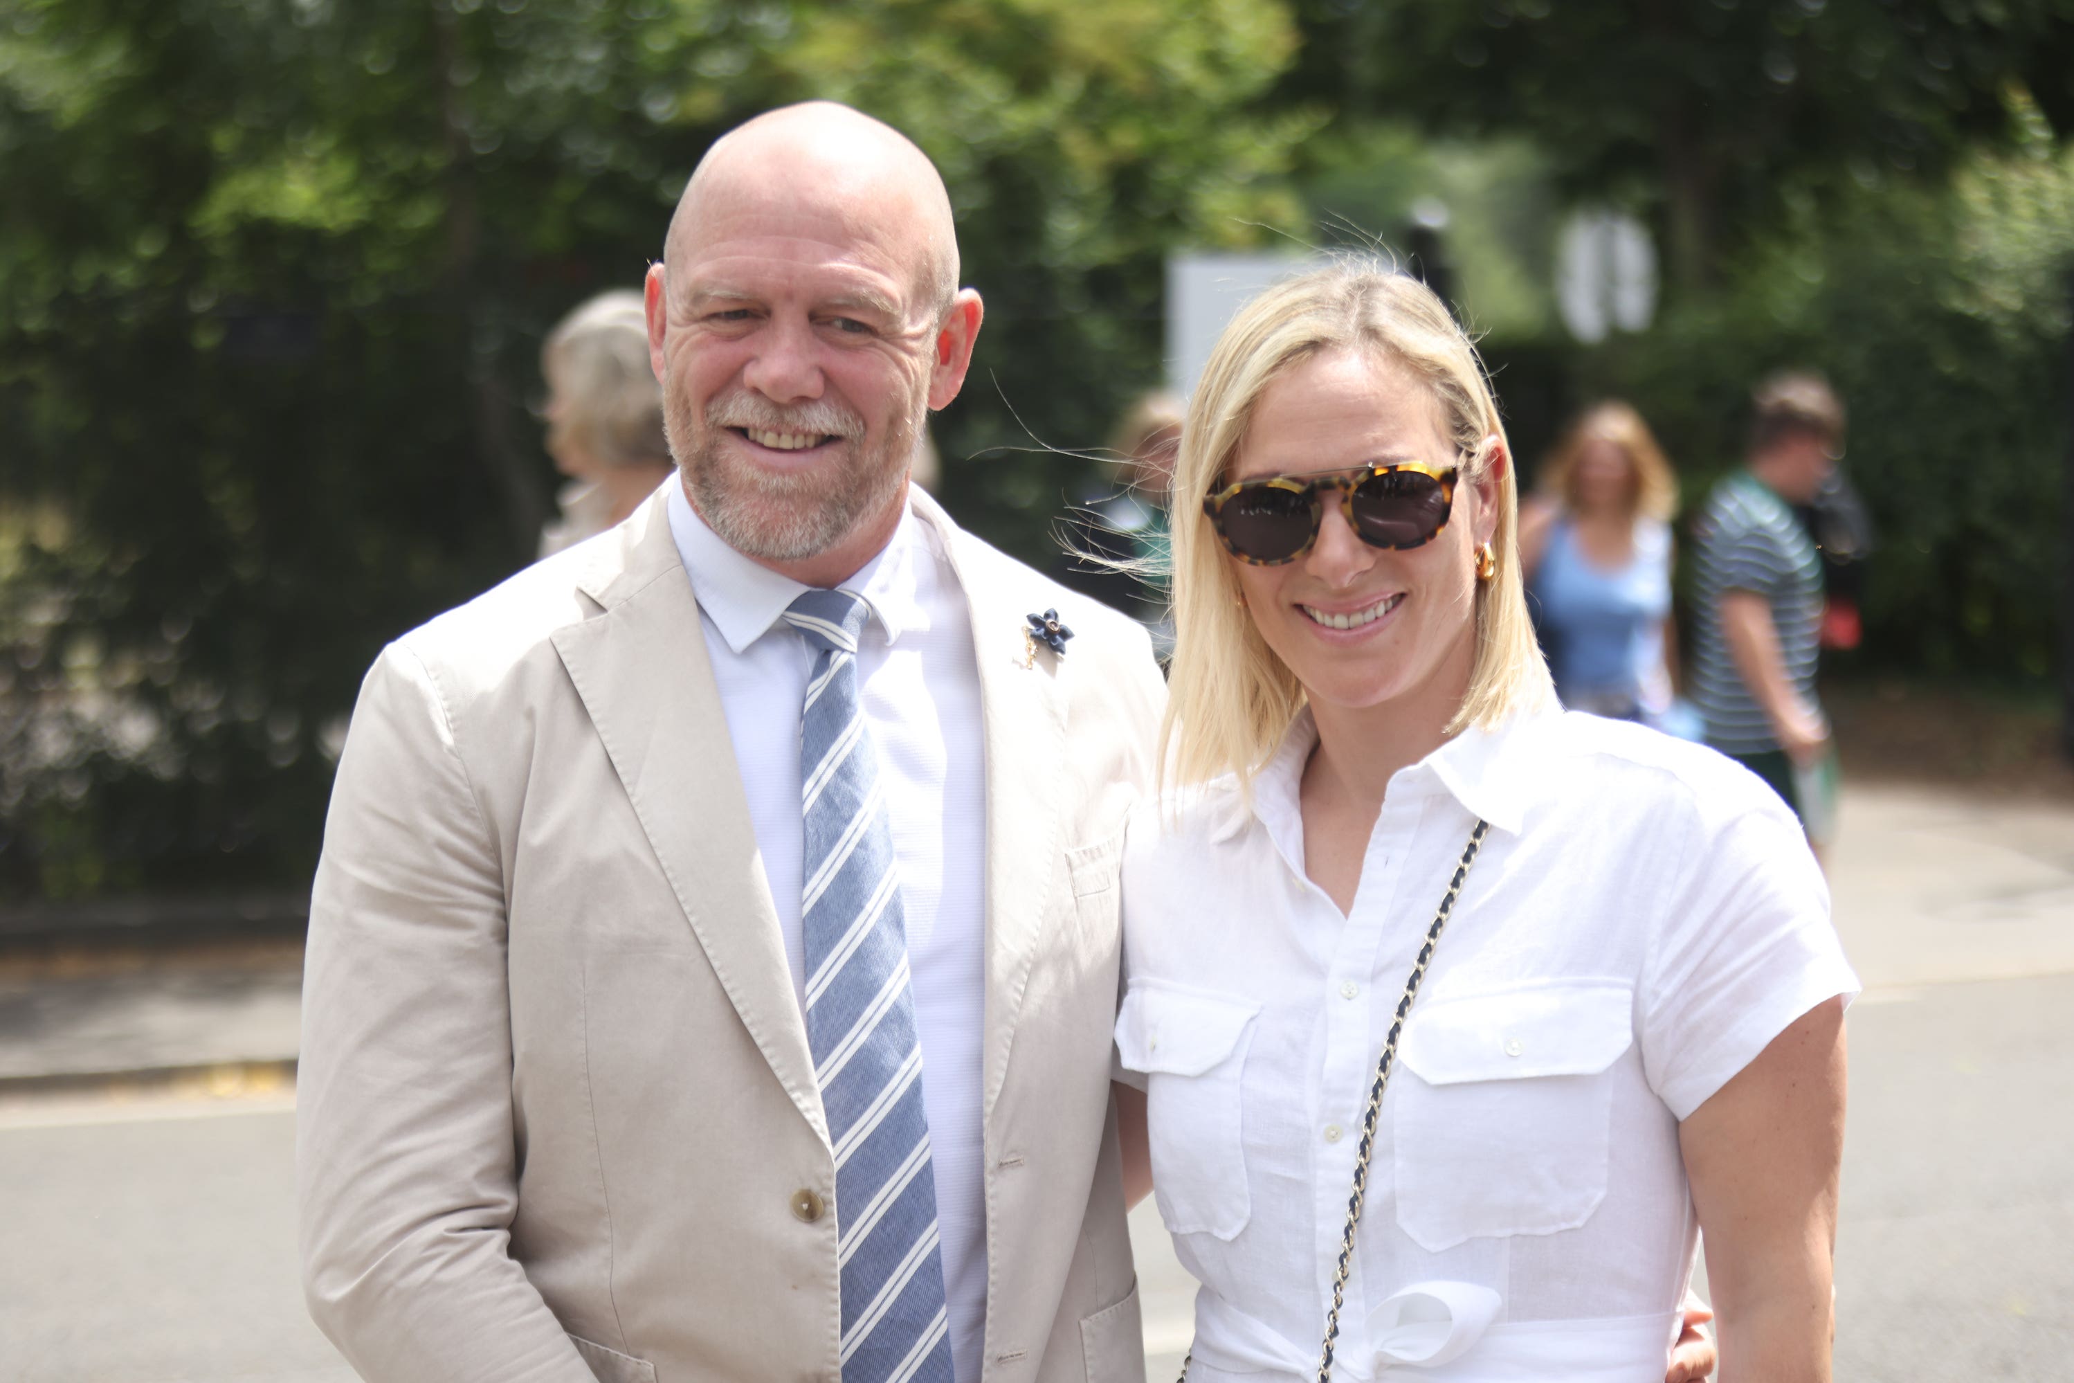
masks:
<svg viewBox="0 0 2074 1383"><path fill-rule="evenodd" d="M900 525L886 547L842 583L844 591L863 595L871 605L871 618L886 630L886 643L929 628L921 581L923 558L931 556L931 547L923 527L913 506L902 508ZM676 539L676 554L691 576L699 608L736 653L769 632L786 608L811 589L728 547L699 518L699 510L691 508L682 483L670 485L670 537Z"/></svg>

